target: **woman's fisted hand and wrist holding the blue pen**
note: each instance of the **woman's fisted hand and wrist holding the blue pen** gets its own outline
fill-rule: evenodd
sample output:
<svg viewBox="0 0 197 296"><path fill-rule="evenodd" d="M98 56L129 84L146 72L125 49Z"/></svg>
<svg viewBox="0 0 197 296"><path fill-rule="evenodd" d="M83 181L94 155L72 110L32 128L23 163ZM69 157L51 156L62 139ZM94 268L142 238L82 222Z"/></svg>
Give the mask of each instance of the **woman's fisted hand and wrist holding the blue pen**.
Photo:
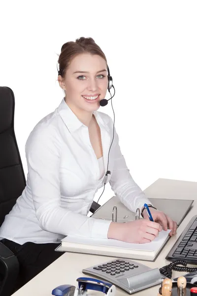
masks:
<svg viewBox="0 0 197 296"><path fill-rule="evenodd" d="M162 231L159 223L146 219L126 223L111 222L107 237L118 239L127 243L149 243Z"/></svg>

